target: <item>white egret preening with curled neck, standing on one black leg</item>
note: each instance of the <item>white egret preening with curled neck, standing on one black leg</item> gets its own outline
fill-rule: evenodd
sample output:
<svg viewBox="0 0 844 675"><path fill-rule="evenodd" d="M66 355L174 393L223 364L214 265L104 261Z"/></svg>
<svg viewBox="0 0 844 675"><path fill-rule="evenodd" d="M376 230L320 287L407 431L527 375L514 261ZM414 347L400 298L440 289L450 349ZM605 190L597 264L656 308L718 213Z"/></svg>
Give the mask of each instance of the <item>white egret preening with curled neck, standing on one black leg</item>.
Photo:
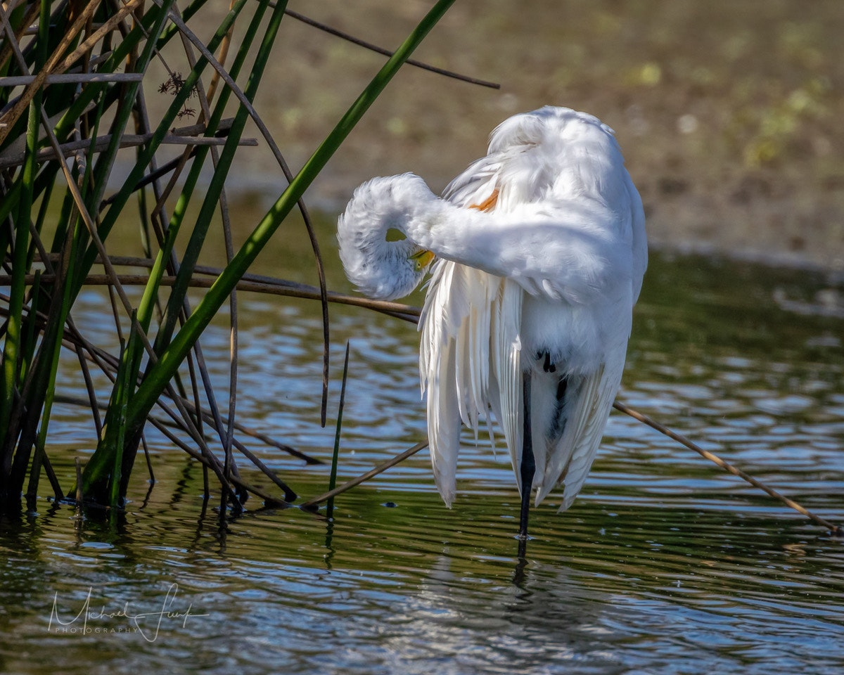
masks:
<svg viewBox="0 0 844 675"><path fill-rule="evenodd" d="M365 182L338 241L371 297L410 293L430 264L419 370L446 505L461 420L477 437L491 408L522 492L522 537L532 489L538 504L562 483L568 508L619 388L647 267L641 199L613 131L566 108L513 116L442 198L413 174Z"/></svg>

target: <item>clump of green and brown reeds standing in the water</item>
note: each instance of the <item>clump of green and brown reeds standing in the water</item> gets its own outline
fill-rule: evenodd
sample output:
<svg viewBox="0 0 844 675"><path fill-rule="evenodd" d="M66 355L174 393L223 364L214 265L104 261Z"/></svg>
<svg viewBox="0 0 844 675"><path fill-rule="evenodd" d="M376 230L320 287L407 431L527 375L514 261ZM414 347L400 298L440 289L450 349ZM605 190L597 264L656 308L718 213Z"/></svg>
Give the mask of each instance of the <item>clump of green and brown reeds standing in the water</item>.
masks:
<svg viewBox="0 0 844 675"><path fill-rule="evenodd" d="M271 504L295 499L294 491L239 440L252 432L235 421L236 290L257 283L247 278L251 263L295 208L310 229L301 201L306 187L452 3L440 0L421 19L295 175L252 105L282 19L287 15L305 19L287 12L286 2L235 0L208 44L189 27L191 19L203 12L205 0L193 0L181 11L174 0L4 3L0 8L4 262L0 284L8 292L3 293L0 308L4 316L0 508L18 509L25 489L34 509L42 475L51 483L56 500L77 494L89 504L121 505L138 450L146 447L144 429L149 424L214 473L224 510L241 508L250 493ZM242 32L236 46L231 37L235 24ZM154 86L157 94L171 100L160 119L153 120L145 102L149 78L144 76L156 59L164 62L160 54L170 41L181 41L186 66L180 72L164 63L168 77ZM233 57L224 65L230 46ZM233 100L235 112L226 116ZM289 182L235 251L225 181L235 154L245 145L257 144L243 137L250 120ZM165 144L181 145L181 154L161 161ZM127 147L135 148L127 178L108 193L118 154ZM120 154L121 160L125 155ZM209 164L213 174L208 186L197 190L200 174ZM166 204L174 200L172 213L167 213ZM118 258L108 252L116 224L126 219L140 226L143 258ZM222 220L227 258L208 282L197 262L217 219ZM327 292L312 230L310 237L320 289L301 289L279 280L257 284L274 286L273 292L280 294L310 294L322 302L324 424L327 301L336 298ZM177 238L180 243L187 241L181 253L176 251ZM138 283L138 275L118 271L125 267L143 271L139 300L131 300L126 290ZM102 273L95 273L95 268ZM92 283L108 285L111 307L105 311L115 317L119 354L98 348L73 321L74 303ZM192 306L188 290L197 286L207 290ZM226 302L233 338L229 408L223 411L199 338ZM78 356L80 397L90 408L99 441L78 485L65 492L51 467L48 431L59 359L68 349ZM102 416L92 370L112 383ZM164 418L154 414L156 407ZM279 441L262 440L315 461ZM246 483L235 452L265 473L281 495ZM149 457L148 466L152 477Z"/></svg>

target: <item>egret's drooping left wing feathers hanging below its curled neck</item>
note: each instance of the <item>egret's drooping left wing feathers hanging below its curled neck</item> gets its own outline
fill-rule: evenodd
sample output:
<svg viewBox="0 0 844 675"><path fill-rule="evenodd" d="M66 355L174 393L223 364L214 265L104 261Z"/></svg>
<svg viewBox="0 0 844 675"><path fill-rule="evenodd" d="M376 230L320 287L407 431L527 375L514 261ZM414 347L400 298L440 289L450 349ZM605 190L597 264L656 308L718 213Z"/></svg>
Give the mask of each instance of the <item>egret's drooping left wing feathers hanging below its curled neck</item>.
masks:
<svg viewBox="0 0 844 675"><path fill-rule="evenodd" d="M477 439L480 419L489 419L491 407L513 467L521 461L522 294L510 280L436 262L419 322L419 372L428 396L431 462L446 504L454 496L461 420Z"/></svg>

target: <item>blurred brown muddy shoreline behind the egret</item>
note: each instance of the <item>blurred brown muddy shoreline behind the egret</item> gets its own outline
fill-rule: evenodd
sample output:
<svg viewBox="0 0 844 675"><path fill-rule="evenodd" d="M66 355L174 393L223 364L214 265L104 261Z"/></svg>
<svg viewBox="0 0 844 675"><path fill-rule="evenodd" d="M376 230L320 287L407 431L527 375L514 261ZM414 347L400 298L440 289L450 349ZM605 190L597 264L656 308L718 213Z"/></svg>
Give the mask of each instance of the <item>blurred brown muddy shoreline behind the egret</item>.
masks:
<svg viewBox="0 0 844 675"><path fill-rule="evenodd" d="M289 3L387 47L428 7L416 0ZM501 89L404 67L306 202L337 213L360 182L403 171L441 190L485 153L489 132L507 116L565 105L614 128L654 248L841 271L841 35L840 0L816 0L810 12L790 0L535 0L518 7L462 0L414 58L498 80ZM259 90L256 108L294 171L383 60L284 20L266 77L271 86ZM259 137L254 128L246 135ZM272 202L284 189L280 170L265 148L244 155L230 190Z"/></svg>

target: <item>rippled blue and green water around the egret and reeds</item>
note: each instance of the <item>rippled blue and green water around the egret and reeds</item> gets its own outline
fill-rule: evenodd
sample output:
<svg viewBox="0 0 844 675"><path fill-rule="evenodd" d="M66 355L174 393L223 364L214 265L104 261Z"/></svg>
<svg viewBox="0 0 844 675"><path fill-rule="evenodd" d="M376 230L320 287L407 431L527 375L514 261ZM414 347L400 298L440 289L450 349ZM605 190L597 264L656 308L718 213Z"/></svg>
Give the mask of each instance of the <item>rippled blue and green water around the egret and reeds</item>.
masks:
<svg viewBox="0 0 844 675"><path fill-rule="evenodd" d="M820 273L654 256L619 397L841 522L842 297ZM95 330L99 296L84 300ZM315 308L241 303L241 419L326 459ZM210 362L226 336L209 335ZM348 308L330 416L347 339L341 478L425 433L414 328ZM94 440L78 409L56 419L68 484ZM844 672L844 541L613 413L582 495L533 511L519 560L506 453L465 440L453 510L423 451L338 498L332 522L251 504L221 524L197 466L150 435L159 482L148 493L138 468L121 521L41 500L2 522L0 670ZM325 489L327 467L249 445L303 496Z"/></svg>

